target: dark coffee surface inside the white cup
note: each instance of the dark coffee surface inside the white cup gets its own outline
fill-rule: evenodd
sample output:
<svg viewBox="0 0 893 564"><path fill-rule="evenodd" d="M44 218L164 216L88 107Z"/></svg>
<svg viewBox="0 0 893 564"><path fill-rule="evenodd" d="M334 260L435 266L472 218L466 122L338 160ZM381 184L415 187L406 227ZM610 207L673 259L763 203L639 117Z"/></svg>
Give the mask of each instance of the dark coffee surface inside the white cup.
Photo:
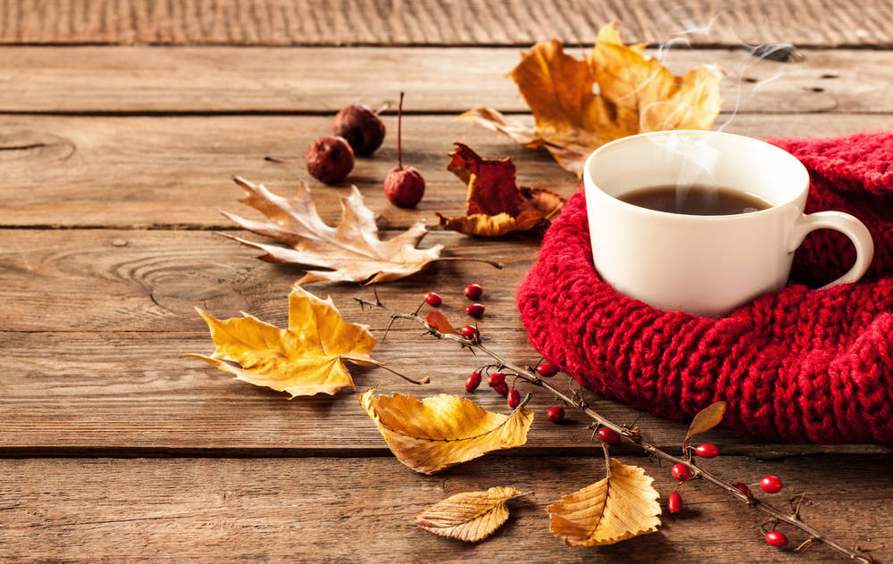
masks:
<svg viewBox="0 0 893 564"><path fill-rule="evenodd" d="M747 192L702 184L638 188L618 197L640 208L685 215L736 215L772 207L772 203Z"/></svg>

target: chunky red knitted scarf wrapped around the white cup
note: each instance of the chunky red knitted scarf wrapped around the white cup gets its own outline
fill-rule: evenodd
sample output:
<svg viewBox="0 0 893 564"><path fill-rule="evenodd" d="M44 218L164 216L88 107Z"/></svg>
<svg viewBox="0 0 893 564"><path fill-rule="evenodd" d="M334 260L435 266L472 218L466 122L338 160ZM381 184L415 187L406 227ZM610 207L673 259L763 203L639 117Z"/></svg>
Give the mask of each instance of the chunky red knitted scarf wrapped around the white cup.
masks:
<svg viewBox="0 0 893 564"><path fill-rule="evenodd" d="M530 343L583 386L672 419L728 402L725 423L798 442L893 443L893 132L772 141L810 171L806 211L842 210L871 230L862 281L814 290L855 260L814 232L789 286L722 319L660 311L598 278L586 201L549 228L518 291Z"/></svg>

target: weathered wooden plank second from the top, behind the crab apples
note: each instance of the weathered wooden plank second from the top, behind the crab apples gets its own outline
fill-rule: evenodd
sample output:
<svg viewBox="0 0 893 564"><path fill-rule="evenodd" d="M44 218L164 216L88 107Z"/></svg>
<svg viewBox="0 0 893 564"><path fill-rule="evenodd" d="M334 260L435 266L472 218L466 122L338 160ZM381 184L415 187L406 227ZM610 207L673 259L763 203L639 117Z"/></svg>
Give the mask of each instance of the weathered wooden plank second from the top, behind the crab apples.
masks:
<svg viewBox="0 0 893 564"><path fill-rule="evenodd" d="M798 64L739 49L660 56L678 73L720 64L725 113L893 112L888 51L809 51ZM515 48L4 47L0 112L334 113L401 90L409 112L527 111L505 78L518 61Z"/></svg>

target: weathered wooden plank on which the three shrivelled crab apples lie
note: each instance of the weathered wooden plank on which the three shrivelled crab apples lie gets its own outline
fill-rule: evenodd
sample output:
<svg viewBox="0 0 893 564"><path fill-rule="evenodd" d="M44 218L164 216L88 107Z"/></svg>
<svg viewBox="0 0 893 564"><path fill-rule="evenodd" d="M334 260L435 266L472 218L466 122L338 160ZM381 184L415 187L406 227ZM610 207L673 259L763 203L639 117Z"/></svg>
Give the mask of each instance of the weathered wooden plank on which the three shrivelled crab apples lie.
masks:
<svg viewBox="0 0 893 564"><path fill-rule="evenodd" d="M264 182L283 195L304 180L314 187L329 221L339 214L334 195L346 195L349 183L355 183L381 214L382 227L404 228L421 219L436 224L435 211L464 210L464 185L446 170L454 141L490 158L511 156L522 185L563 195L576 190L576 178L545 151L447 116L413 116L404 124L405 160L421 170L427 190L417 209L398 209L381 191L396 163L395 119L385 121L384 146L371 158L358 159L341 187L330 188L311 178L302 163L263 161L268 154L303 154L314 138L330 131L329 117L3 116L0 226L232 228L219 209L252 213L237 202L242 191L230 180L234 175ZM738 115L725 130L752 137L806 137L890 128L889 114L782 114Z"/></svg>

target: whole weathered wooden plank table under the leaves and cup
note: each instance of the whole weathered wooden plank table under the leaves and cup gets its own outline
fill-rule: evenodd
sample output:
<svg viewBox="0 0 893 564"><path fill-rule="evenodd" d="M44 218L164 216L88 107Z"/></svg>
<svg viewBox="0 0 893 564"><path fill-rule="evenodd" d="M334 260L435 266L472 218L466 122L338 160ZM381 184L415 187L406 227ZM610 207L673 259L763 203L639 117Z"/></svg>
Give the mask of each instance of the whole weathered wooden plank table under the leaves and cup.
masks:
<svg viewBox="0 0 893 564"><path fill-rule="evenodd" d="M540 413L522 448L427 477L400 465L355 394L286 401L184 352L210 352L193 310L219 317L248 311L286 321L286 295L301 270L255 260L218 232L235 233L218 209L245 212L230 180L240 175L281 193L312 180L302 155L346 104L379 104L406 91L405 161L424 173L417 210L388 204L381 181L396 162L396 118L385 145L357 162L350 181L397 230L435 211L463 210L464 189L446 170L454 141L490 157L511 156L522 184L571 195L576 180L548 155L453 120L489 105L524 113L503 74L519 47L560 37L591 44L598 27L622 21L630 40L654 43L670 0L484 2L482 0L213 0L48 2L0 5L0 560L2 561L396 561L834 562L819 546L795 556L766 545L762 518L705 484L686 485L688 509L661 532L605 548L564 547L543 509L602 477L586 421L555 426ZM704 23L728 3L697 0L678 10ZM681 71L700 62L730 69L720 121L754 137L828 136L893 128L893 2L753 0L716 21L696 48L674 52ZM748 42L805 46L801 65L760 62L733 48ZM350 46L342 46L350 45ZM741 64L752 65L736 73ZM739 82L785 71L734 108ZM315 187L335 220L342 187ZM505 263L434 264L380 287L398 309L425 291L462 319L462 288L479 282L481 324L508 358L536 361L513 295L541 236L480 240L432 229L425 243L453 256ZM351 285L331 294L346 319L380 335L387 319L363 313ZM377 357L430 386L355 370L360 389L460 393L479 360L398 325ZM476 401L505 411L503 398ZM684 423L600 398L597 411L638 421L676 448ZM814 502L806 518L847 544L893 560L889 450L872 444L773 444L729 430L709 440L722 476L753 483L783 477L786 493ZM666 468L618 449L655 476ZM513 505L492 539L464 545L428 535L413 516L448 494L515 485L535 493ZM782 499L783 504L785 501ZM792 533L792 541L803 540Z"/></svg>

